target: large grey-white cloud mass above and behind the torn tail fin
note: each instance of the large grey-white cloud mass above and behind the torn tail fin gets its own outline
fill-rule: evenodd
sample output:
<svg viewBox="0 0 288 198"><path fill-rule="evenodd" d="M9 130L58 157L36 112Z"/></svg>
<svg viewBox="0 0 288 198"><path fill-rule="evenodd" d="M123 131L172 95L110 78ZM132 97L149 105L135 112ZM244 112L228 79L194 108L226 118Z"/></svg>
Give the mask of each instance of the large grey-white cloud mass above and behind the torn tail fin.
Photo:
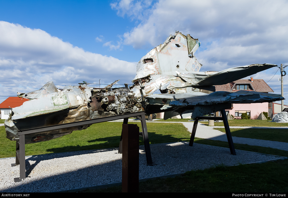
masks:
<svg viewBox="0 0 288 198"><path fill-rule="evenodd" d="M125 1L121 7L122 2L117 4L118 13L135 18L137 13L127 10L134 1ZM151 14L123 34L123 43L136 49L157 46L179 30L200 40L196 57L207 69L215 64L219 64L218 70L252 63L278 64L288 52L287 8L287 1L159 0L140 11Z"/></svg>

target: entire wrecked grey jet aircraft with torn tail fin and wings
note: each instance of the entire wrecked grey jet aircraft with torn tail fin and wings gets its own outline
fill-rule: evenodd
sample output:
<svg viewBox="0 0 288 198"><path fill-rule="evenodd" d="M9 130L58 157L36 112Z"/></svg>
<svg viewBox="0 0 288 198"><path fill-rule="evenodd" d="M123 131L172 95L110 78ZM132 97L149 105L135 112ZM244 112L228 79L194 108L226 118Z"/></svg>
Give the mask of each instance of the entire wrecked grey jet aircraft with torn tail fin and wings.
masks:
<svg viewBox="0 0 288 198"><path fill-rule="evenodd" d="M149 51L137 64L133 85L112 88L65 86L57 89L48 82L41 89L18 93L31 99L12 109L5 120L7 138L19 141L18 130L51 126L87 119L145 111L164 113L164 119L175 115L198 117L231 108L233 103L259 103L284 100L281 95L255 91L215 91L213 85L223 85L272 68L273 64L253 64L220 72L200 72L201 64L194 53L200 46L198 39L180 32L170 35L163 44ZM160 90L162 94L153 94ZM229 106L230 105L230 106ZM188 115L189 114L189 115ZM184 116L185 115L185 116ZM90 125L89 125L90 126ZM47 141L81 127L53 130L25 137L25 144Z"/></svg>

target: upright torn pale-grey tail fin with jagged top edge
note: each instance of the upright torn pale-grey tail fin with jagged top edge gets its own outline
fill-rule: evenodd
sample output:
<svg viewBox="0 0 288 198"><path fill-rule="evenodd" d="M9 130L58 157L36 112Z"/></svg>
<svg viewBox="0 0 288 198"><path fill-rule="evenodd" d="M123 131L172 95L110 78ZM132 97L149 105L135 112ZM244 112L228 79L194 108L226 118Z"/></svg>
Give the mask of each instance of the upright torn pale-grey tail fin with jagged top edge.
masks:
<svg viewBox="0 0 288 198"><path fill-rule="evenodd" d="M137 74L132 82L155 74L176 76L176 71L199 71L202 65L192 55L199 46L198 39L192 38L189 34L184 36L179 31L176 32L174 36L169 36L163 44L141 58L137 64Z"/></svg>

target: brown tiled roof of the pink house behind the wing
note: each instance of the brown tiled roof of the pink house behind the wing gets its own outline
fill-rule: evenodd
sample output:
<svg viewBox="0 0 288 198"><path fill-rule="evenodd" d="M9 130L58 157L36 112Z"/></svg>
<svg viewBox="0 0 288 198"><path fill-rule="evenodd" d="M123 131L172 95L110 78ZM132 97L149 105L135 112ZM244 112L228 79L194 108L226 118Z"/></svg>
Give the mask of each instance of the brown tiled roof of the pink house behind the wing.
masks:
<svg viewBox="0 0 288 198"><path fill-rule="evenodd" d="M253 82L248 79L241 79L237 81L233 81L232 83L228 83L225 85L215 85L216 91L239 91L239 90L231 90L235 84L251 84L255 91L257 92L274 92L263 79L253 79ZM235 88L235 87L234 87ZM246 90L253 91L253 90Z"/></svg>

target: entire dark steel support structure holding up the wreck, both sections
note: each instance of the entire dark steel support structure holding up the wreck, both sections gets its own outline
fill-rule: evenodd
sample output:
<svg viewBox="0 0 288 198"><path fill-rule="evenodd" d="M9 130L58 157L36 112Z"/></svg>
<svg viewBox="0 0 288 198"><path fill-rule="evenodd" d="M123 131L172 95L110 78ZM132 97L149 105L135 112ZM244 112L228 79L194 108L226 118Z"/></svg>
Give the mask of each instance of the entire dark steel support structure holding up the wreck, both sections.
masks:
<svg viewBox="0 0 288 198"><path fill-rule="evenodd" d="M123 124L128 124L128 118L129 117L137 117L138 119L140 119L142 132L139 132L139 136L143 137L147 166L156 165L155 163L152 162L145 114L146 114L145 111L141 111L141 112L137 112L137 113L127 113L127 114L122 114L122 115L89 119L89 120L84 120L84 121L58 124L58 125L53 125L53 126L45 126L45 127L39 127L39 128L19 130L18 131L19 141L16 141L16 162L14 164L11 164L11 166L20 165L20 177L14 178L14 182L20 182L20 181L22 181L22 179L26 179L25 135L29 135L29 134L33 134L33 133L39 133L39 132L47 132L47 131L51 131L51 130L59 130L59 129L69 128L69 127L77 127L77 126L82 126L82 125L87 125L87 124L95 124L95 123L113 121L113 120L117 120L117 119L124 119ZM192 129L192 133L191 133L189 146L193 146L193 142L194 142L194 138L195 138L196 129L197 129L199 119L223 120L224 127L226 130L227 139L228 139L228 143L229 143L230 152L231 152L231 154L236 155L225 110L221 110L221 114L222 114L222 117L196 117L194 120L194 125L193 125L193 129ZM123 132L123 128L122 128L122 132ZM122 153L122 132L121 132L121 138L120 138L118 153Z"/></svg>

